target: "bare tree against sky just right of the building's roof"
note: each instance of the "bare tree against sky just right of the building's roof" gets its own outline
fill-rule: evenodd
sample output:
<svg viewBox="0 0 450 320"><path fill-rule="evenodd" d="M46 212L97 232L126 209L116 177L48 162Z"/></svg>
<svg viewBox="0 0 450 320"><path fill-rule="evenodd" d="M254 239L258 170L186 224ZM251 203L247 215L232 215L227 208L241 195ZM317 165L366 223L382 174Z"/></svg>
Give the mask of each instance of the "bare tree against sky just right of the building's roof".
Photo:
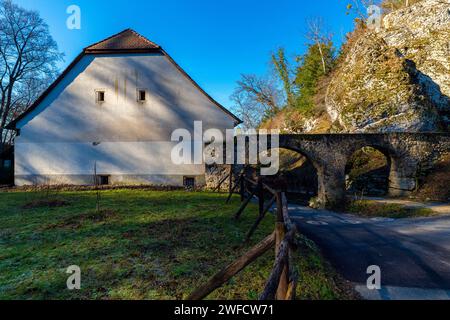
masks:
<svg viewBox="0 0 450 320"><path fill-rule="evenodd" d="M242 75L231 100L245 128L257 128L261 121L277 113L283 104L283 93L272 81L255 75Z"/></svg>

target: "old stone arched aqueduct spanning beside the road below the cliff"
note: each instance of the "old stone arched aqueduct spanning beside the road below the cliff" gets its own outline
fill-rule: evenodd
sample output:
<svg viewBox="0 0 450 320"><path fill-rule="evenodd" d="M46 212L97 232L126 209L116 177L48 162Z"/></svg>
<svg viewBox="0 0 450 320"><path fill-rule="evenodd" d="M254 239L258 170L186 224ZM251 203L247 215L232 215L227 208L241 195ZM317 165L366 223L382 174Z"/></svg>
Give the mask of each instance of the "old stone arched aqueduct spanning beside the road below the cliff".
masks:
<svg viewBox="0 0 450 320"><path fill-rule="evenodd" d="M448 133L300 134L279 137L280 148L301 153L317 169L318 197L324 207L339 207L344 203L346 164L361 148L373 147L390 161L391 196L410 194L417 187L421 169L450 152Z"/></svg>

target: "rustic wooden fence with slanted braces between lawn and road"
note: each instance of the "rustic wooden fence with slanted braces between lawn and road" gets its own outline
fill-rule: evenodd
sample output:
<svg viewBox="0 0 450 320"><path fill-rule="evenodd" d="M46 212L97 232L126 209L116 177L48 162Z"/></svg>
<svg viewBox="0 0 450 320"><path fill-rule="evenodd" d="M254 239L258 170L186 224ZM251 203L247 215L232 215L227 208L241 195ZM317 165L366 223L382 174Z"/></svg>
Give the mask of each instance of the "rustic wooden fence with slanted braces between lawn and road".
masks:
<svg viewBox="0 0 450 320"><path fill-rule="evenodd" d="M276 224L274 232L251 248L243 256L233 263L229 264L219 273L214 275L203 286L194 290L189 296L189 300L202 300L211 294L214 290L227 283L236 274L244 270L256 259L264 255L275 246L275 263L266 286L262 291L260 300L294 300L298 282L298 274L294 267L293 254L297 250L296 225L292 223L289 217L289 208L286 194L275 190L264 183L261 177L256 181L247 176L247 170L244 169L239 174L238 179L233 184L233 169L230 168L229 174L220 181L216 190L220 191L222 184L229 179L229 196L227 203L239 188L242 204L235 214L235 219L239 219L245 209L255 198L258 197L259 215L249 230L245 241L251 240L264 217L277 204ZM267 200L267 201L266 201Z"/></svg>

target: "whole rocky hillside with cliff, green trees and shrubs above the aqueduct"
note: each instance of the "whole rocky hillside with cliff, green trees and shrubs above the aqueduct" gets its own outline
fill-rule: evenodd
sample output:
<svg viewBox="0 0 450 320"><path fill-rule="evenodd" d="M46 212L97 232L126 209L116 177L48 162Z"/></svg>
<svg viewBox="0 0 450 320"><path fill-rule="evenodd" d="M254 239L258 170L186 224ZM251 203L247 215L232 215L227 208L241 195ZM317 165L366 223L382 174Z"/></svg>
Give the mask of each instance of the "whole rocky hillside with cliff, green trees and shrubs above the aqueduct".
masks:
<svg viewBox="0 0 450 320"><path fill-rule="evenodd" d="M266 98L287 97L278 104L273 100L276 108L264 114L262 128L291 133L449 130L449 4L422 0L405 7L404 1L391 0L381 5L381 28L357 19L339 50L325 28L313 23L308 50L294 65L285 54L274 55L275 74L285 79L291 71L291 85L261 91Z"/></svg>

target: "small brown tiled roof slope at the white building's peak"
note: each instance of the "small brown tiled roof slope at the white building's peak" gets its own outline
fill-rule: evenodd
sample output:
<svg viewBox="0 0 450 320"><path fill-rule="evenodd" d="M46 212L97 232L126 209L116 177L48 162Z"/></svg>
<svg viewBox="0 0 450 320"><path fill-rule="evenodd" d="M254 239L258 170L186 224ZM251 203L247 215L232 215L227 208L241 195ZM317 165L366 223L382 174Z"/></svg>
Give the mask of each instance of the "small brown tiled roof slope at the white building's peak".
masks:
<svg viewBox="0 0 450 320"><path fill-rule="evenodd" d="M86 53L99 51L155 50L160 46L141 36L134 30L126 29L105 40L84 49Z"/></svg>

